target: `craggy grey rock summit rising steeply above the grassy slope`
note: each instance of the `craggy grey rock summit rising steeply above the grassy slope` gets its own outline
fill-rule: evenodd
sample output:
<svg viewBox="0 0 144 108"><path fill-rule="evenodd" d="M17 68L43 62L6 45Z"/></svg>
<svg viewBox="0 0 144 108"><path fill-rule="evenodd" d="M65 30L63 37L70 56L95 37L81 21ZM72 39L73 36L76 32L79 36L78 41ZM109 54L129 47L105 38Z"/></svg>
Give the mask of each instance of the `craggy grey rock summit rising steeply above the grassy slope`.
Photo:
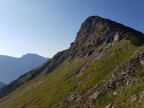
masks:
<svg viewBox="0 0 144 108"><path fill-rule="evenodd" d="M81 25L75 42L71 44L67 52L69 60L89 56L96 47L103 43L111 46L127 37L131 31L143 35L129 27L99 16L88 17Z"/></svg>

